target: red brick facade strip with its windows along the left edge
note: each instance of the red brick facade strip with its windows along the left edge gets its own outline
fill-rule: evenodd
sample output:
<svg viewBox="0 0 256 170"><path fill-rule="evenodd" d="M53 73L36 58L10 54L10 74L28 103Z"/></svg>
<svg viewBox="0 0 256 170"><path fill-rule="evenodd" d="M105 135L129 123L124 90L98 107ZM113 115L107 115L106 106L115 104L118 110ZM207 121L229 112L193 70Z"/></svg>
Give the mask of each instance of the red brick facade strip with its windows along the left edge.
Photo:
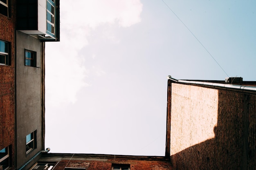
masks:
<svg viewBox="0 0 256 170"><path fill-rule="evenodd" d="M0 1L0 150L8 155L6 159L0 156L3 168L14 165L15 151L16 6L11 5L14 3Z"/></svg>

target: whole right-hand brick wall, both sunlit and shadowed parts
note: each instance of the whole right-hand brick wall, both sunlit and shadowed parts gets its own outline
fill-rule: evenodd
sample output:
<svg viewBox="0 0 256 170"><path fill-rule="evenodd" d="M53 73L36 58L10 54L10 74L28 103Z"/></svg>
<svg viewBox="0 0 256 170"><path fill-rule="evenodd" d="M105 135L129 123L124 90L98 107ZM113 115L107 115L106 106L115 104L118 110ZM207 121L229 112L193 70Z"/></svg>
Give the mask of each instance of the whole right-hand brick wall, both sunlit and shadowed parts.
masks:
<svg viewBox="0 0 256 170"><path fill-rule="evenodd" d="M175 169L256 168L255 94L174 82L170 93Z"/></svg>

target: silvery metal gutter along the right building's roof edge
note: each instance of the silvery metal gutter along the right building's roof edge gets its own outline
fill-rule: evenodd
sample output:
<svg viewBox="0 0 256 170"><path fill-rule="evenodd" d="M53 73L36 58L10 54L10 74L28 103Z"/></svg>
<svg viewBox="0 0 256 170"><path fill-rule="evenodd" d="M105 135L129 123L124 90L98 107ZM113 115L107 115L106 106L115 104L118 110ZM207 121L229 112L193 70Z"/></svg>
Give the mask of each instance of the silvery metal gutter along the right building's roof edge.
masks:
<svg viewBox="0 0 256 170"><path fill-rule="evenodd" d="M221 83L212 83L212 82L200 82L200 81L189 81L189 80L177 80L168 75L168 79L172 80L173 82L179 82L184 84L198 84L203 86L215 86L215 87L224 87L224 88L233 88L238 90L245 90L245 91L256 91L256 86L243 86L243 85L235 85L235 84L221 84Z"/></svg>

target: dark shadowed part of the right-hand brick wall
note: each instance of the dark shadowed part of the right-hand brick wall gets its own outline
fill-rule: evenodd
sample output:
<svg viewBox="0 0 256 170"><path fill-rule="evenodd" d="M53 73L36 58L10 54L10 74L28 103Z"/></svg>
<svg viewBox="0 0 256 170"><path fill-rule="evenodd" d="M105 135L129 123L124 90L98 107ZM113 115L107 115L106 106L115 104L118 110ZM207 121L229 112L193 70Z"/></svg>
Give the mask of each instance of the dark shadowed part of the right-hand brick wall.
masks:
<svg viewBox="0 0 256 170"><path fill-rule="evenodd" d="M214 133L214 138L171 155L173 168L255 170L256 95L219 90Z"/></svg>

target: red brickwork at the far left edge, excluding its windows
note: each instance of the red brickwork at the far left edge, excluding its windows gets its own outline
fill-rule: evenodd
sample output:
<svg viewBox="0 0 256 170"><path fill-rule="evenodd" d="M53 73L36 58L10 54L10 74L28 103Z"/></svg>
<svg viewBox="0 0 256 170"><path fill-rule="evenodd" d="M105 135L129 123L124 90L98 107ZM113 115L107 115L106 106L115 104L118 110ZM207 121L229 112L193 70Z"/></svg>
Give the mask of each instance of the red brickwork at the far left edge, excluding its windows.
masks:
<svg viewBox="0 0 256 170"><path fill-rule="evenodd" d="M0 65L0 149L12 146L14 163L15 147L15 24L16 1L11 0L10 17L0 14L0 40L9 42L10 66Z"/></svg>

